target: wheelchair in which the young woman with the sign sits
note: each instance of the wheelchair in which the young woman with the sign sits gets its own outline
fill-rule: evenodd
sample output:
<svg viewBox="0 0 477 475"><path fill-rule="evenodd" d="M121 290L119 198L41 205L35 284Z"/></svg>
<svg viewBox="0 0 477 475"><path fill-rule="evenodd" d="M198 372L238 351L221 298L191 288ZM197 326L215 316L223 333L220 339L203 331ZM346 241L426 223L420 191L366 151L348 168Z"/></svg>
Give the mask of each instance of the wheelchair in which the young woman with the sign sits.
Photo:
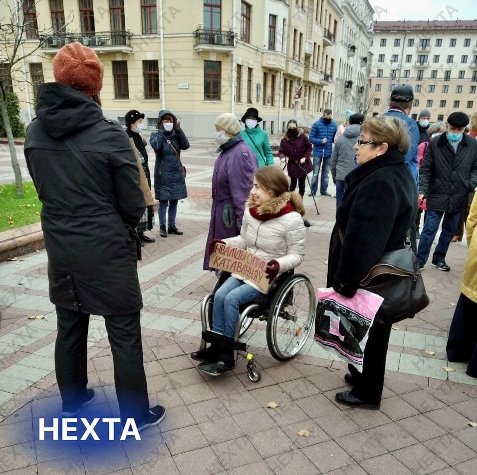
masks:
<svg viewBox="0 0 477 475"><path fill-rule="evenodd" d="M306 343L314 325L316 294L306 275L295 274L294 270L283 272L272 282L266 295L261 294L239 308L235 336L230 339L212 331L214 295L230 276L229 272L219 271L214 288L202 300L200 348L205 348L207 342L232 347L234 368L237 366L238 356L245 358L248 379L257 383L261 378L260 372L253 355L239 338L248 330L254 319L266 321L266 342L270 354L279 361L293 358ZM218 370L215 363L206 362L201 363L198 369L209 376L220 376L228 372Z"/></svg>

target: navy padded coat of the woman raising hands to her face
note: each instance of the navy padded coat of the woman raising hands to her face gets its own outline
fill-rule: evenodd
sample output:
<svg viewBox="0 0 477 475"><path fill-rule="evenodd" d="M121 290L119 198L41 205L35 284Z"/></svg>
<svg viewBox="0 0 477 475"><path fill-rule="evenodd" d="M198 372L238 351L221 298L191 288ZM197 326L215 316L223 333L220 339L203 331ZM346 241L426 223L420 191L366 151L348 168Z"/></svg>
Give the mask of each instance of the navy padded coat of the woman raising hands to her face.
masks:
<svg viewBox="0 0 477 475"><path fill-rule="evenodd" d="M169 114L172 116L172 114ZM149 142L156 152L156 165L154 168L154 190L156 200L182 200L187 198L186 179L176 152L170 144L174 145L177 153L187 150L189 140L182 129L166 132L163 129L151 134Z"/></svg>

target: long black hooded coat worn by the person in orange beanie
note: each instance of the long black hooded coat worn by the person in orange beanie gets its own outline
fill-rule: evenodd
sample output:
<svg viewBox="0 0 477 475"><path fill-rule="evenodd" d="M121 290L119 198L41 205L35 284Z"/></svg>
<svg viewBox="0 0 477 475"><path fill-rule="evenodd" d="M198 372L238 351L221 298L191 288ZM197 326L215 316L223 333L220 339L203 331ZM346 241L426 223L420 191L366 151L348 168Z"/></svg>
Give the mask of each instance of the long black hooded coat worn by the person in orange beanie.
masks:
<svg viewBox="0 0 477 475"><path fill-rule="evenodd" d="M64 143L67 136L83 152L96 180ZM51 302L96 315L140 310L136 244L124 223L135 228L145 202L122 127L104 119L88 96L47 83L38 87L25 158L43 204Z"/></svg>

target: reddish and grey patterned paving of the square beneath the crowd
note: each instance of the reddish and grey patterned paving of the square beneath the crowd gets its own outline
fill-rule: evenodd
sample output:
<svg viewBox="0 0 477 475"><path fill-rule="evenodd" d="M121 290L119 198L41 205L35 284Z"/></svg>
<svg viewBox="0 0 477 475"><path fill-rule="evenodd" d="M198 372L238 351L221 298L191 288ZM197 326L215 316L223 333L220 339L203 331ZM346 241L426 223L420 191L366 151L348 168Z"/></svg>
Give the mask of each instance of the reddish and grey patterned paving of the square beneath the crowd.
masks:
<svg viewBox="0 0 477 475"><path fill-rule="evenodd" d="M451 272L426 266L430 306L392 330L379 411L335 404L334 394L346 387L346 365L312 339L291 362L273 360L261 323L244 335L261 368L259 383L248 381L243 361L220 379L204 377L189 355L200 341L200 301L214 283L202 270L214 155L207 141L188 152L190 199L180 203L177 220L185 234L161 239L153 230L157 242L143 248L139 263L148 389L151 405L166 406L165 420L144 431L141 442L100 449L38 440L38 418L58 414L60 399L46 253L34 252L0 264L0 474L475 475L477 428L468 424L477 422L477 380L445 353L465 245L451 246ZM300 272L319 287L326 282L335 201L320 199L318 217L311 198L305 204L313 226ZM80 416L117 415L102 317L91 317L88 339L96 399ZM446 372L448 366L455 371ZM272 401L278 407L267 408ZM303 430L308 437L298 435Z"/></svg>

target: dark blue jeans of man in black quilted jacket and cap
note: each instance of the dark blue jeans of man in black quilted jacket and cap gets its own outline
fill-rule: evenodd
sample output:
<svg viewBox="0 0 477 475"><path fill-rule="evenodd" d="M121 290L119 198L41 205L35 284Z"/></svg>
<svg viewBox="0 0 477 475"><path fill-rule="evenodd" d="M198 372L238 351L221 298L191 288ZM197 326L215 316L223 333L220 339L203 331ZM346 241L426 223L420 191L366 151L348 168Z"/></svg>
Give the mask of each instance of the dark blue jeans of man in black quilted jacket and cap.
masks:
<svg viewBox="0 0 477 475"><path fill-rule="evenodd" d="M429 258L431 246L434 239L436 238L439 224L441 223L443 216L444 220L442 222L442 232L441 236L439 236L439 242L437 243L436 249L434 249L432 262L441 262L446 259L447 250L449 249L449 244L451 243L451 239L453 238L457 229L457 225L459 224L461 212L457 211L455 213L444 213L443 211L428 210L426 212L424 228L421 231L421 239L419 240L419 247L417 251L418 263L421 266L423 266Z"/></svg>

